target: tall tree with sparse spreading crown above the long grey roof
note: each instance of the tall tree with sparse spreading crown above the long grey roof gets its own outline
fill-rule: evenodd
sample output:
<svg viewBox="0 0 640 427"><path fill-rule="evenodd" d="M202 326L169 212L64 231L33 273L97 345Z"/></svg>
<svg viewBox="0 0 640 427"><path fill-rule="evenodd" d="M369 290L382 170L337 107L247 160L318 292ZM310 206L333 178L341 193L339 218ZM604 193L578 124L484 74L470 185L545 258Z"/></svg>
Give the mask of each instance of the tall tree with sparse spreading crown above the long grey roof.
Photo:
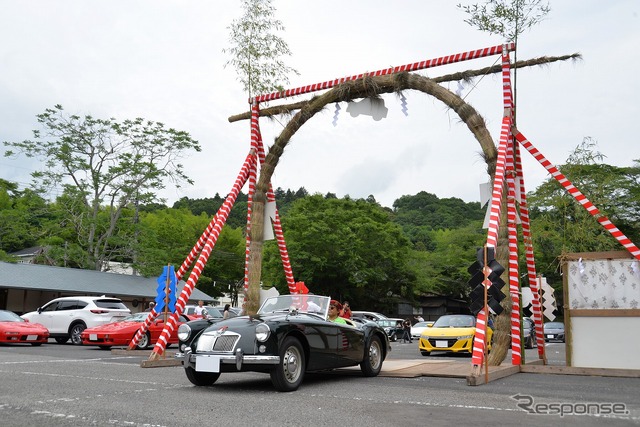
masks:
<svg viewBox="0 0 640 427"><path fill-rule="evenodd" d="M200 151L187 132L142 118L118 122L67 115L60 105L37 118L43 129L34 130L32 140L5 141L12 148L5 156L20 152L41 159L45 168L32 174L36 189L62 185L66 197L77 203L67 220L76 243L86 248L90 268L100 270L125 255L110 246L123 209L154 202L166 180L178 187L192 183L178 163L187 151ZM101 222L103 215L106 222Z"/></svg>

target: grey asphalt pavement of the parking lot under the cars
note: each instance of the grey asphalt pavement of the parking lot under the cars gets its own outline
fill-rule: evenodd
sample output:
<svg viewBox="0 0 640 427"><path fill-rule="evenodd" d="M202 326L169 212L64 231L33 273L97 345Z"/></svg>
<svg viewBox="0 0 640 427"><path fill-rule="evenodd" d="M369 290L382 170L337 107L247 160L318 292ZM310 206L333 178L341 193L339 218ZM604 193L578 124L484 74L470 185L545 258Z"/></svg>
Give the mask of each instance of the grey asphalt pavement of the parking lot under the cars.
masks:
<svg viewBox="0 0 640 427"><path fill-rule="evenodd" d="M394 343L378 377L363 377L357 369L309 374L292 393L276 392L269 375L251 372L224 374L213 386L196 387L181 367L142 368L147 358L70 344L0 346L0 423L640 425L638 378L520 373L471 387L460 377L400 376L403 364L470 366L468 356L423 357L416 343ZM591 413L581 413L586 405Z"/></svg>

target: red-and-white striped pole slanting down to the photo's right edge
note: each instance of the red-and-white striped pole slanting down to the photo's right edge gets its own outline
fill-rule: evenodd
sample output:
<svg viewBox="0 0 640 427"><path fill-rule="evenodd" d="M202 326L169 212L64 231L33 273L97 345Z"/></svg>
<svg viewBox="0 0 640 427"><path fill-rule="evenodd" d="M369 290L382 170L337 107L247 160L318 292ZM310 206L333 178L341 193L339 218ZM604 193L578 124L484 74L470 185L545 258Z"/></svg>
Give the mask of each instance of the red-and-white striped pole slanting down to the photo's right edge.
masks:
<svg viewBox="0 0 640 427"><path fill-rule="evenodd" d="M595 207L589 199L585 197L584 194L580 192L572 183L565 177L562 172L558 170L557 167L551 164L543 155L540 153L534 146L525 138L525 136L521 132L516 132L516 139L524 148L531 153L531 155L542 165L544 168L553 176L556 181L560 183L564 187L565 190L569 194L573 196L586 210L589 212L613 237L615 237L618 242L622 246L627 249L631 255L633 255L636 259L640 260L640 249L631 241L627 236L622 233L613 225L613 223L606 216L602 215L600 210Z"/></svg>

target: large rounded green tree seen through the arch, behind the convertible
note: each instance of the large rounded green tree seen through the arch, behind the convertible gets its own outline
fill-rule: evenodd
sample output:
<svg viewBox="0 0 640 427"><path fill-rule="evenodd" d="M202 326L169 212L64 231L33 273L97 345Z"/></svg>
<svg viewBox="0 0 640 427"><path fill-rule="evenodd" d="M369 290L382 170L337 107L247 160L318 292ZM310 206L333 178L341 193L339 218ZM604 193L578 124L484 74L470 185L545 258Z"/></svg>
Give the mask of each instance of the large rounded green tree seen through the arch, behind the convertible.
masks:
<svg viewBox="0 0 640 427"><path fill-rule="evenodd" d="M296 280L311 292L385 311L391 296L413 298L410 242L378 204L316 194L293 203L282 222ZM270 243L264 282L288 292L277 246Z"/></svg>

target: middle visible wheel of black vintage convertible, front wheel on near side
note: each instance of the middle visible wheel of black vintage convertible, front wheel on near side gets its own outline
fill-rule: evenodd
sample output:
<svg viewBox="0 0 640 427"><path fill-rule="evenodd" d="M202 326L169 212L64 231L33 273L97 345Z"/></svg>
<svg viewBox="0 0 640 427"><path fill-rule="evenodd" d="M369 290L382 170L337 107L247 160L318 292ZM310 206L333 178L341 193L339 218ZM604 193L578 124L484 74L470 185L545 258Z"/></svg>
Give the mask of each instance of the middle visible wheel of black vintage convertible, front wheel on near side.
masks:
<svg viewBox="0 0 640 427"><path fill-rule="evenodd" d="M280 348L280 362L270 372L273 386L278 391L297 390L304 379L305 369L302 344L294 337L287 337Z"/></svg>

